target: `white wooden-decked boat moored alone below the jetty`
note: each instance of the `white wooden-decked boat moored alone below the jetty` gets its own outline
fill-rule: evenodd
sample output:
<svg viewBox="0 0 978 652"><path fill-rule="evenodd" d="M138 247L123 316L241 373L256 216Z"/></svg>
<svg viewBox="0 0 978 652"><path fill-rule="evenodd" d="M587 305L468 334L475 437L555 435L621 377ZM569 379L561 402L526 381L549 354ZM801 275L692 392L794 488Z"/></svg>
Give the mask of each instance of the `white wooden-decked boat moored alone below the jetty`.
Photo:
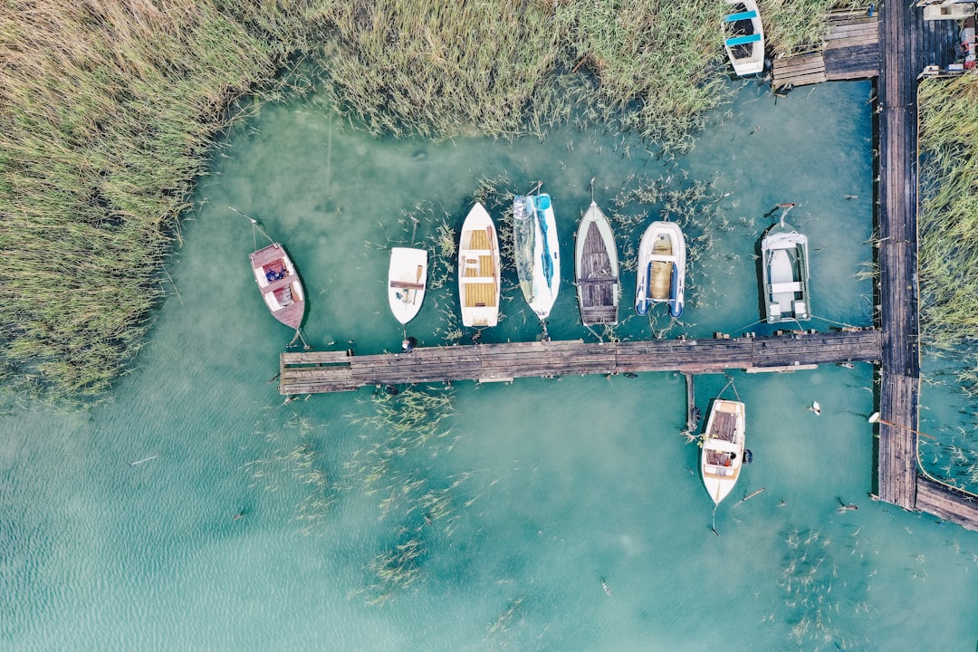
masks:
<svg viewBox="0 0 978 652"><path fill-rule="evenodd" d="M744 405L716 399L706 420L699 470L703 486L715 504L733 490L743 467Z"/></svg>

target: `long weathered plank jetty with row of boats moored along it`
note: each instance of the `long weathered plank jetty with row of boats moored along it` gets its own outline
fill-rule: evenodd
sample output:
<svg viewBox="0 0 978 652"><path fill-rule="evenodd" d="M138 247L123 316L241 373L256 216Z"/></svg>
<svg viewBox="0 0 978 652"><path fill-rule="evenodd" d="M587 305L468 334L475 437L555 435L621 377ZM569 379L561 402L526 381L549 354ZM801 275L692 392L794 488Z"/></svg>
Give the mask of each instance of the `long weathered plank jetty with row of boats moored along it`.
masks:
<svg viewBox="0 0 978 652"><path fill-rule="evenodd" d="M283 353L280 391L316 394L384 384L629 371L802 369L877 361L881 346L881 333L867 329L733 339L512 342L366 356L345 351Z"/></svg>

